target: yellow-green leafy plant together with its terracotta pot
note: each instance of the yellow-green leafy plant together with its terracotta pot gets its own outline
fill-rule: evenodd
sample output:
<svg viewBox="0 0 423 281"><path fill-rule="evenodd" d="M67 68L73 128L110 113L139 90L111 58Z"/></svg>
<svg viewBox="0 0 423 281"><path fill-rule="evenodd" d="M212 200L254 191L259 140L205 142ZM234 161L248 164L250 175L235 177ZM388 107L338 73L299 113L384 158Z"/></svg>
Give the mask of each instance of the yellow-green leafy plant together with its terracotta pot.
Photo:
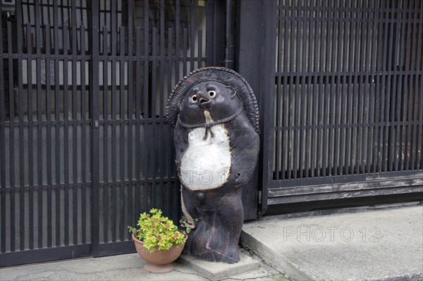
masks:
<svg viewBox="0 0 423 281"><path fill-rule="evenodd" d="M167 273L173 270L172 262L180 256L187 235L178 230L173 220L161 215L161 210L152 208L141 213L137 227L128 226L135 242L137 253L147 263L146 271Z"/></svg>

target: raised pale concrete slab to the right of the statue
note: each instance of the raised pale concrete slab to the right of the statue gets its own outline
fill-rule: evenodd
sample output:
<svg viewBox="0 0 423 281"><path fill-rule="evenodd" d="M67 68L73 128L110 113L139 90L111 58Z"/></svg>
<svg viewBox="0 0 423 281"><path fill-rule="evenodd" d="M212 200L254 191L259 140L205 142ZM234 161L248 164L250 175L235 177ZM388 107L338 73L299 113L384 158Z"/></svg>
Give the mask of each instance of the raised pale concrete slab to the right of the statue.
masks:
<svg viewBox="0 0 423 281"><path fill-rule="evenodd" d="M423 280L421 204L295 216L245 224L243 245L293 280Z"/></svg>

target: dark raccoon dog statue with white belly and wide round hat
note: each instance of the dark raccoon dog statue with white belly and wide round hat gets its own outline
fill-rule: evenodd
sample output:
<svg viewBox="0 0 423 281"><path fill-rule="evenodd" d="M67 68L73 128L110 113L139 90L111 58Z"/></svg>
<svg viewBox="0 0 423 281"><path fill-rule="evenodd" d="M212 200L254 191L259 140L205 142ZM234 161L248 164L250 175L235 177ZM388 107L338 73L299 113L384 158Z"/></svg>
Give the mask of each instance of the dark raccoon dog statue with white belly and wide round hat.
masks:
<svg viewBox="0 0 423 281"><path fill-rule="evenodd" d="M185 218L194 223L185 253L205 261L240 261L242 187L259 153L258 107L250 85L227 68L194 70L166 106L175 127L176 166Z"/></svg>

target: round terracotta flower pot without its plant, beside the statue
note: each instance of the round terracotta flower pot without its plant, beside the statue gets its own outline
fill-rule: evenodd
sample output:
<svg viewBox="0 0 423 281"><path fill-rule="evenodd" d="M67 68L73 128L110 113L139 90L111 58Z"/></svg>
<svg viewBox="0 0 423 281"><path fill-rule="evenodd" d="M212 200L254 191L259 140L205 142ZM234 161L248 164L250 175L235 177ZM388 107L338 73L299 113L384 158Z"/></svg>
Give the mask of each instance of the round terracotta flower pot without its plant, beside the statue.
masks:
<svg viewBox="0 0 423 281"><path fill-rule="evenodd" d="M185 241L187 241L185 236ZM182 253L183 244L173 245L168 250L160 250L159 246L154 248L154 252L150 253L145 246L144 242L138 240L133 235L133 240L135 242L135 248L140 257L147 263L144 266L144 270L150 273L168 273L174 269L172 262L176 260Z"/></svg>

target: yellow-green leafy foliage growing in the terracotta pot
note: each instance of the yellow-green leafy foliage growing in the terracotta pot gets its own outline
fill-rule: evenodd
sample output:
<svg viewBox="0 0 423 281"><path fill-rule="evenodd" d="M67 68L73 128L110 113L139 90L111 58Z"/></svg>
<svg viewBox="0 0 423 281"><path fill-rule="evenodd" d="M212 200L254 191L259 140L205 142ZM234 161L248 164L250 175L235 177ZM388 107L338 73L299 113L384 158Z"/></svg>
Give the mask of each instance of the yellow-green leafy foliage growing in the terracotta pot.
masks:
<svg viewBox="0 0 423 281"><path fill-rule="evenodd" d="M178 230L173 220L161 216L161 210L157 208L152 208L149 213L141 213L137 227L128 226L128 229L144 242L150 253L154 252L155 246L167 250L173 244L182 244L185 241L185 233Z"/></svg>

